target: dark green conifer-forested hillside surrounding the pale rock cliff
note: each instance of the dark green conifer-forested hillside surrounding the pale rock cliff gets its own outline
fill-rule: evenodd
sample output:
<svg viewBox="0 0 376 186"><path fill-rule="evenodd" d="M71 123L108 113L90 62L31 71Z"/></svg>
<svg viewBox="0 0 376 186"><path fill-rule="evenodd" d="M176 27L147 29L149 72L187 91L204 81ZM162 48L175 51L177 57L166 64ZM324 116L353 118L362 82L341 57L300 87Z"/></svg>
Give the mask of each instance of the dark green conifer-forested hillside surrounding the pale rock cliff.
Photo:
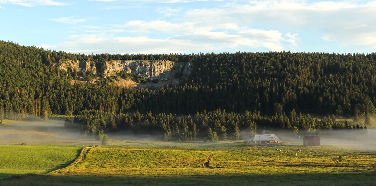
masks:
<svg viewBox="0 0 376 186"><path fill-rule="evenodd" d="M240 130L252 135L257 128L271 127L352 128L334 117L357 121L365 116L360 126L369 125L375 113L375 59L375 53L84 55L0 41L0 118L76 115L73 125L66 125L79 124L84 133L158 131L165 133L166 140L239 139ZM78 76L100 80L72 85L77 71L61 71L54 65L65 60L90 62L97 74ZM181 79L176 86L129 89L101 77L109 60L191 62L194 69L188 80ZM308 113L326 118L318 120Z"/></svg>

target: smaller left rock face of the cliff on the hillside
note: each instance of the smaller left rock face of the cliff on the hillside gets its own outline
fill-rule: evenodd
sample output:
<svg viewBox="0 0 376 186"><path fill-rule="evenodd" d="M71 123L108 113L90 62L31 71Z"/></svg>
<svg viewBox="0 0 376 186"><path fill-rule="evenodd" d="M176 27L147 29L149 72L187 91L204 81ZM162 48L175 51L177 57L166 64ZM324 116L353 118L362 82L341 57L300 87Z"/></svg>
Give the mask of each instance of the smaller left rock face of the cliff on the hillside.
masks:
<svg viewBox="0 0 376 186"><path fill-rule="evenodd" d="M90 65L90 61L72 61L72 60L66 60L63 63L57 63L55 64L59 70L63 70L67 72L68 69L70 71L74 71L75 69L77 70L78 74L82 74L83 72L90 72L93 71L94 74L97 74L97 69L95 66Z"/></svg>

